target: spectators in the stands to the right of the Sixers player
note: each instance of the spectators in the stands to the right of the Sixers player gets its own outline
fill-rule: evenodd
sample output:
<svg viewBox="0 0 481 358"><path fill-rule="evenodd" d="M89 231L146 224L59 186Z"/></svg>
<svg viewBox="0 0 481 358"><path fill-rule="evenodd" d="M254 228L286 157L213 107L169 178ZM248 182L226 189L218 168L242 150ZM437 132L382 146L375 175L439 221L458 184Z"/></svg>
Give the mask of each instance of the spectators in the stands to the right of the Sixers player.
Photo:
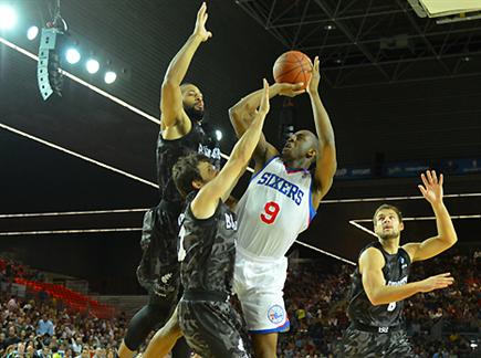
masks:
<svg viewBox="0 0 481 358"><path fill-rule="evenodd" d="M456 252L456 251L454 251ZM279 357L335 357L344 329L354 266L307 263L291 266L285 303L289 334L280 336ZM481 357L481 252L448 253L416 262L409 281L450 272L450 288L405 301L406 328L414 357Z"/></svg>

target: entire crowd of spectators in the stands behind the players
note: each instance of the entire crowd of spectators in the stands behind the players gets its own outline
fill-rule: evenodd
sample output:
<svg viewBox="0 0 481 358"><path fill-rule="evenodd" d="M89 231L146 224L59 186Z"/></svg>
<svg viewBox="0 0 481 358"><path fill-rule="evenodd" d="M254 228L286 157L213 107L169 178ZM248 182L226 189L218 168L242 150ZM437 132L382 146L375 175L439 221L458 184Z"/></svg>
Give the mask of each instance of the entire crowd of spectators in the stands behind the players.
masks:
<svg viewBox="0 0 481 358"><path fill-rule="evenodd" d="M481 333L480 266L481 252L441 255L411 266L410 281L448 270L457 280L448 289L406 301L414 357L481 355L475 346ZM15 270L12 262L2 265L1 281L11 282L15 272L22 272ZM41 277L35 271L23 272ZM322 260L291 263L285 285L291 330L280 335L279 357L335 357L348 325L346 298L353 272L352 265L326 265ZM0 298L0 357L115 357L127 323L125 314L98 319L39 293L21 298L7 289Z"/></svg>

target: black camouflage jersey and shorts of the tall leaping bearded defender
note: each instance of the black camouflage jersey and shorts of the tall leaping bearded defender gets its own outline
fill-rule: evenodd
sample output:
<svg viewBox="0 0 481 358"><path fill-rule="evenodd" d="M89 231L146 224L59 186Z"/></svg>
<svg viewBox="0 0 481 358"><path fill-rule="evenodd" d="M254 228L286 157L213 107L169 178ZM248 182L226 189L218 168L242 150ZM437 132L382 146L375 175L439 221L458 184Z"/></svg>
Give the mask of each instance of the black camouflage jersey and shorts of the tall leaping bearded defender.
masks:
<svg viewBox="0 0 481 358"><path fill-rule="evenodd" d="M143 287L157 295L171 293L178 285L177 234L178 217L184 201L171 179L177 160L191 151L198 151L211 158L220 166L218 141L206 134L202 126L192 120L191 130L184 137L166 140L161 131L157 140L157 176L161 201L144 217L140 246L143 257L137 268L137 277Z"/></svg>

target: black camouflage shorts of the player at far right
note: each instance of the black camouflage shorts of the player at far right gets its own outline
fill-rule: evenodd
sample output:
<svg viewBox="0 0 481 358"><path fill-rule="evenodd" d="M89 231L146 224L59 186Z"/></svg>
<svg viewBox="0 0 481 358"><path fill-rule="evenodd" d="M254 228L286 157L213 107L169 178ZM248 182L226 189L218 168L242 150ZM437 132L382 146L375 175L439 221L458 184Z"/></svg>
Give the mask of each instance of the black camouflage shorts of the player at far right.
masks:
<svg viewBox="0 0 481 358"><path fill-rule="evenodd" d="M336 357L412 357L412 350L402 329L380 334L348 327Z"/></svg>

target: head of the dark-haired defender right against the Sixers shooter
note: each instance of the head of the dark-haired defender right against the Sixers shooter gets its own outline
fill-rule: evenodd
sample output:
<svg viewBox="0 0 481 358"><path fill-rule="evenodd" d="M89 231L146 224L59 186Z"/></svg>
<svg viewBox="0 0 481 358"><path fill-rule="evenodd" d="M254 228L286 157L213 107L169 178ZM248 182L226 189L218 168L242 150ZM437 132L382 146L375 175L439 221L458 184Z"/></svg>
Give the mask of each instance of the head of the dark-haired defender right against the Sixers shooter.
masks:
<svg viewBox="0 0 481 358"><path fill-rule="evenodd" d="M210 159L197 152L179 158L172 168L172 179L182 198L202 188L218 173Z"/></svg>

